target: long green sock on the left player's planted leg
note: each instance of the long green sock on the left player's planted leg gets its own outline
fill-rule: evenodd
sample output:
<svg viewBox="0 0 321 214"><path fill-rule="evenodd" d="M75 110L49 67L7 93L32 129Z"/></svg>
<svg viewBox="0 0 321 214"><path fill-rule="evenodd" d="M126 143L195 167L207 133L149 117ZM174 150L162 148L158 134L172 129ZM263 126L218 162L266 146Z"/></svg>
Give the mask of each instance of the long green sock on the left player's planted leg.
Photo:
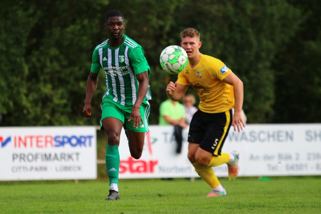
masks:
<svg viewBox="0 0 321 214"><path fill-rule="evenodd" d="M109 178L109 185L111 183L118 184L118 171L119 171L119 146L107 145L106 149L106 167Z"/></svg>

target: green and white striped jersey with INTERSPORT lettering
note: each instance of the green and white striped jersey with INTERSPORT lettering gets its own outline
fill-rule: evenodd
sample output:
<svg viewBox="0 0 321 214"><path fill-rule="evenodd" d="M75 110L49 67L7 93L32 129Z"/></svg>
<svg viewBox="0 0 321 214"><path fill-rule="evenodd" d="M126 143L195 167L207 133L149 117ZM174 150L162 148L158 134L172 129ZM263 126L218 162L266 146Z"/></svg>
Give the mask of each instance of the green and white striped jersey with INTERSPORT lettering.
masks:
<svg viewBox="0 0 321 214"><path fill-rule="evenodd" d="M109 39L95 47L92 54L91 72L99 73L101 68L106 74L106 92L113 101L123 106L134 105L139 82L136 74L148 71L150 67L144 57L143 48L124 34L123 43L117 47L109 47ZM150 87L143 100L150 100Z"/></svg>

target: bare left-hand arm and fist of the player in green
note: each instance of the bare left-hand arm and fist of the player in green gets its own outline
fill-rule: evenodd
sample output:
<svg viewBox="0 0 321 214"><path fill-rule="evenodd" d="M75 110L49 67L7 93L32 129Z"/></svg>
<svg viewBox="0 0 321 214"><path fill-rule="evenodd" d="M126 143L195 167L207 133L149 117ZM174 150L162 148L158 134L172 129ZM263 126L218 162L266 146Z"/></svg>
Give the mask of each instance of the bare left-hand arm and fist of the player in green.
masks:
<svg viewBox="0 0 321 214"><path fill-rule="evenodd" d="M90 72L89 77L87 79L86 85L86 100L85 106L83 107L82 114L85 117L91 116L91 98L94 95L98 84L98 73Z"/></svg>

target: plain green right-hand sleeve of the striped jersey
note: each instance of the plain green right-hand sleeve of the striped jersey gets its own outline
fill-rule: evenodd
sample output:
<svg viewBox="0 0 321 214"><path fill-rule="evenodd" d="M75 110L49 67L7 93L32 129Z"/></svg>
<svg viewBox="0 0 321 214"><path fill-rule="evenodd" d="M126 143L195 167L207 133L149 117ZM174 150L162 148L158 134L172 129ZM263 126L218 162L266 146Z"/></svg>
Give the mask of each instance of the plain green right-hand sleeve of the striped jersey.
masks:
<svg viewBox="0 0 321 214"><path fill-rule="evenodd" d="M134 48L129 53L129 60L134 69L135 74L143 73L145 71L149 71L149 66L147 60L144 56L144 51L141 46Z"/></svg>

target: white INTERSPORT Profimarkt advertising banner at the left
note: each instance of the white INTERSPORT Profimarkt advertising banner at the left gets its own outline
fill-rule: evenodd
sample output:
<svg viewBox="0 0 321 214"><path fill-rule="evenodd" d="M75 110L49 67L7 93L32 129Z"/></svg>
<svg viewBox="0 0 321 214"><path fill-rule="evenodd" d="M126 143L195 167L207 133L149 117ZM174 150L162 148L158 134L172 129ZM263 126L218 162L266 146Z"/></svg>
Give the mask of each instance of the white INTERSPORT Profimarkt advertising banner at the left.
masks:
<svg viewBox="0 0 321 214"><path fill-rule="evenodd" d="M94 126L0 127L0 181L96 179Z"/></svg>

